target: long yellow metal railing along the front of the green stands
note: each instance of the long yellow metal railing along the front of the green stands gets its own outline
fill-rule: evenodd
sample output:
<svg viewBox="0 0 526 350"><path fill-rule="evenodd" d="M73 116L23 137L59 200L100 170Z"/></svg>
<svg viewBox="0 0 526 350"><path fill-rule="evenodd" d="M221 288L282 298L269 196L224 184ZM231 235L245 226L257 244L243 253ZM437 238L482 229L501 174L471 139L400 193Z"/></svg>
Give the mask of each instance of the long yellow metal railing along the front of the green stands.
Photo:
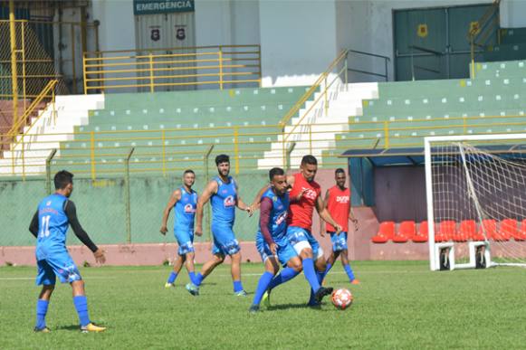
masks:
<svg viewBox="0 0 526 350"><path fill-rule="evenodd" d="M349 148L390 148L396 140L396 147L421 147L422 137L432 135L449 135L452 128L455 133L466 134L471 128L491 129L494 127L526 128L524 116L485 116L451 117L444 123L444 118L422 118L411 121L405 119L349 122L349 131L341 131L341 123L306 124L309 137L301 141L278 140L282 135L281 125L268 126L234 126L215 128L167 128L156 130L122 130L122 131L89 131L69 134L46 134L45 140L20 141L22 154L35 151L37 155L13 156L0 162L0 174L20 175L17 169L24 169L24 175L41 175L47 166L75 168L75 174L96 179L100 175L148 174L160 175L180 172L191 166L196 172L207 173L208 166L213 166L210 157L211 147L216 152L229 153L232 156L233 173L238 175L256 170L257 159L263 158L271 144L286 147L285 157L294 155L318 154L320 144L339 140L336 147L324 149L336 151L337 154ZM438 124L443 122L442 124ZM410 126L402 125L410 123ZM331 131L331 129L333 131ZM321 131L322 130L322 131ZM424 133L425 132L425 133ZM295 134L301 134L295 131ZM478 133L487 133L481 131ZM345 135L345 139L338 134ZM424 135L425 134L425 135ZM74 138L74 139L73 139ZM62 141L61 149L52 158L46 158L56 149L58 139ZM73 139L73 140L72 140ZM65 145L69 144L69 147ZM47 147L49 145L49 147ZM151 145L151 146L150 146ZM31 147L30 147L31 146ZM129 153L134 148L133 154ZM63 152L60 155L60 151ZM297 156L293 156L297 157ZM266 156L275 164L283 162L282 156ZM128 161L126 160L128 159ZM14 167L12 162L15 163ZM128 166L126 166L128 164ZM286 166L290 166L290 160ZM322 162L322 166L341 166L341 162ZM6 169L6 167L8 167ZM12 170L12 171L9 171Z"/></svg>

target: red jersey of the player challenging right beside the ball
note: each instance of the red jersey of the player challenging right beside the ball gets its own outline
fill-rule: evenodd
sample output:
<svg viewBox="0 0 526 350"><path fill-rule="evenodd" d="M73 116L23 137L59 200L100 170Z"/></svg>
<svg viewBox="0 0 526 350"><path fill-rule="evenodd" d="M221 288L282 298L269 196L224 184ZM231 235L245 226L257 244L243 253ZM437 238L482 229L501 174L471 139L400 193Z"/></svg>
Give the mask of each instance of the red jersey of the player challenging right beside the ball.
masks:
<svg viewBox="0 0 526 350"><path fill-rule="evenodd" d="M312 230L312 213L316 205L316 199L321 194L321 187L315 181L308 182L301 173L294 174L294 185L289 193L290 197L296 197L301 191L306 189L301 196L300 202L291 203L287 223L289 226L301 227L305 230Z"/></svg>

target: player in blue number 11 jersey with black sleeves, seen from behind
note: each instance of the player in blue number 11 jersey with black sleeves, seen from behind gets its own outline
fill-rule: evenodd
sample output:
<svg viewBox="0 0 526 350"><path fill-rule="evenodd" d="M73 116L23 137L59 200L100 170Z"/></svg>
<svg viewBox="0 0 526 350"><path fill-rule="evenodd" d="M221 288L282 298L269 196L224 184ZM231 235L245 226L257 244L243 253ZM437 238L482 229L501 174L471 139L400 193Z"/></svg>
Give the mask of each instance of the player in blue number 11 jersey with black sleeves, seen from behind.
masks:
<svg viewBox="0 0 526 350"><path fill-rule="evenodd" d="M56 277L62 283L70 283L73 289L73 304L79 315L82 332L102 332L106 328L93 325L88 314L88 302L84 293L84 281L81 273L66 249L66 232L72 225L75 235L95 256L95 260L104 263L104 251L97 248L90 236L82 229L77 218L75 204L69 200L73 191L73 175L65 170L54 176L56 192L45 197L38 205L29 231L36 240L36 263L38 275L36 284L43 285L36 304L35 332L49 333L45 315L55 287Z"/></svg>

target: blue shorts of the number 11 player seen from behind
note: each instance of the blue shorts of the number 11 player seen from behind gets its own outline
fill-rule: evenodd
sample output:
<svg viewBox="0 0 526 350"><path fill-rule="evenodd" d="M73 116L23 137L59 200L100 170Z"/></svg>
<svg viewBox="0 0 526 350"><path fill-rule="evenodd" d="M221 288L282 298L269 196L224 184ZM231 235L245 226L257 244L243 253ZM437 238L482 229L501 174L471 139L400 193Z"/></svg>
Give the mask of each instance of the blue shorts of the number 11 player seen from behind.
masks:
<svg viewBox="0 0 526 350"><path fill-rule="evenodd" d="M62 283L72 283L75 280L81 280L81 272L72 260L67 251L49 254L43 260L37 260L38 269L36 275L36 285L54 285L56 276L61 279Z"/></svg>

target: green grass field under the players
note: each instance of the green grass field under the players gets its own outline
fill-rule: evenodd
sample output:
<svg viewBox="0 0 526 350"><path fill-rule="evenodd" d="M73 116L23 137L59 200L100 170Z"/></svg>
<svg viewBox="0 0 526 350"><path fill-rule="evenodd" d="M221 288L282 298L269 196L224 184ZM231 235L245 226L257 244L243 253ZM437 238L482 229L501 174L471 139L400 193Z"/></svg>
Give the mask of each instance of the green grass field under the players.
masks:
<svg viewBox="0 0 526 350"><path fill-rule="evenodd" d="M234 297L229 266L206 279L201 296L165 289L169 267L89 268L91 319L103 334L81 334L71 288L55 289L51 334L34 334L34 268L0 268L0 348L525 348L526 270L430 272L427 262L355 262L362 281L349 285L336 266L329 286L351 289L339 311L329 300L304 307L303 275L273 291L273 307L249 315L261 264L244 265L248 298Z"/></svg>

